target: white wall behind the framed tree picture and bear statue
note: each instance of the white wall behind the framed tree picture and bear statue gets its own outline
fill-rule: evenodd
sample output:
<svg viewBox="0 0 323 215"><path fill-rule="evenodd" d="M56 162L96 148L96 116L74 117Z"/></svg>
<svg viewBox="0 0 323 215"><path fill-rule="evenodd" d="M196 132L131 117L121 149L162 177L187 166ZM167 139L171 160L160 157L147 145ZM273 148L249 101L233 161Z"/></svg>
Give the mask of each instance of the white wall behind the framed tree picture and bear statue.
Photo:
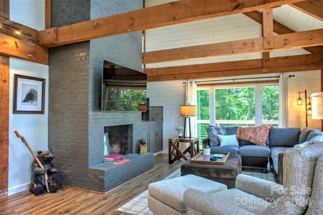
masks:
<svg viewBox="0 0 323 215"><path fill-rule="evenodd" d="M37 30L44 29L43 0L11 0L10 19ZM45 79L44 114L13 114L14 74ZM31 149L48 149L48 66L16 58L10 58L9 100L9 195L28 189L33 156L20 138L25 137Z"/></svg>

